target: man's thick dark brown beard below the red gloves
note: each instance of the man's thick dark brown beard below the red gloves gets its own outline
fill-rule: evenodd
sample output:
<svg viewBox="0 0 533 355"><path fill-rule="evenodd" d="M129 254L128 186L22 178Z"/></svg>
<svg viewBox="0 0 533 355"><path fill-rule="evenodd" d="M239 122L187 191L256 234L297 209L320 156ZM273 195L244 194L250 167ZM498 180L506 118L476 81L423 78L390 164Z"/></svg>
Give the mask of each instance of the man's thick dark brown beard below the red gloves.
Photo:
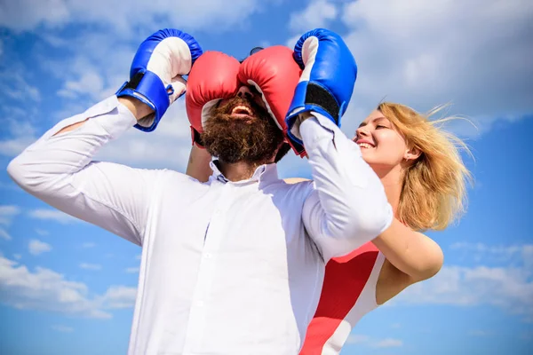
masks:
<svg viewBox="0 0 533 355"><path fill-rule="evenodd" d="M236 105L251 107L251 118L232 117ZM205 123L203 146L221 162L263 164L274 158L284 138L267 110L249 99L236 97L215 107Z"/></svg>

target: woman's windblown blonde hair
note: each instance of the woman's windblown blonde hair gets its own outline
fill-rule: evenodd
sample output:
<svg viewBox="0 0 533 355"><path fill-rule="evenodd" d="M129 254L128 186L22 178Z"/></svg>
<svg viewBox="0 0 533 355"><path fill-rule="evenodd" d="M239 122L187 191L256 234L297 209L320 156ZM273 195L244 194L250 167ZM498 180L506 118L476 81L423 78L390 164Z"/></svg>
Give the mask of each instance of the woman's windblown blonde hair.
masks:
<svg viewBox="0 0 533 355"><path fill-rule="evenodd" d="M442 230L457 219L466 204L466 182L470 172L459 154L465 143L442 130L442 123L457 117L430 121L441 111L437 107L428 114L419 114L408 106L383 102L378 111L394 124L409 147L421 154L402 175L402 193L396 211L398 219L418 231Z"/></svg>

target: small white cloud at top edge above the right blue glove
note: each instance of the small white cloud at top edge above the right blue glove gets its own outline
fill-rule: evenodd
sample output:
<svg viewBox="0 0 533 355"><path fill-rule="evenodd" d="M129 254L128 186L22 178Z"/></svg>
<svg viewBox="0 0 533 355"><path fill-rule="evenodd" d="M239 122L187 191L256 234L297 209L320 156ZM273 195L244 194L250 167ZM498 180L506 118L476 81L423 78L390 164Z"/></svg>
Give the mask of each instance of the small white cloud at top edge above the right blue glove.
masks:
<svg viewBox="0 0 533 355"><path fill-rule="evenodd" d="M335 20L338 9L327 0L314 0L303 12L290 15L289 27L293 31L305 32L313 28L326 28L331 20Z"/></svg>

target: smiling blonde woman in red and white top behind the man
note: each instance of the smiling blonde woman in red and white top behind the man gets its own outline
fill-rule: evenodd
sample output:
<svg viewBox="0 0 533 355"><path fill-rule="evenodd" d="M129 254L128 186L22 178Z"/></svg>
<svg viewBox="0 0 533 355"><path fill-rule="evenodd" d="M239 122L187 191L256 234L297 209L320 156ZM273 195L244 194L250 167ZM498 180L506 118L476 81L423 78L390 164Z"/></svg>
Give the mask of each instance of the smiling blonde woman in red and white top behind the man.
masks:
<svg viewBox="0 0 533 355"><path fill-rule="evenodd" d="M439 127L446 119L429 121L437 111L385 102L356 130L354 142L380 177L395 219L372 242L327 264L300 355L338 354L364 314L441 269L442 249L419 231L442 230L458 217L470 173L457 151L465 145ZM193 148L187 174L207 180L210 161Z"/></svg>

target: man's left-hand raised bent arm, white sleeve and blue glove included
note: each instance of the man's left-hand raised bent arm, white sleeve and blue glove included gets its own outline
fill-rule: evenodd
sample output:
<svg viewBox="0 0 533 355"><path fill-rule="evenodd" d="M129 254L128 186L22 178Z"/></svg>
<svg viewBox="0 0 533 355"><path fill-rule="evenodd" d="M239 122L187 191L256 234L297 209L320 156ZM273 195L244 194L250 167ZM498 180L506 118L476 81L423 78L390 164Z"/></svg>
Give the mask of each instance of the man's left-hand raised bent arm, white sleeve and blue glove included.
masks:
<svg viewBox="0 0 533 355"><path fill-rule="evenodd" d="M71 216L142 244L149 198L161 171L92 157L131 126L154 130L202 50L192 36L163 29L139 46L128 83L112 96L56 124L10 162L12 179Z"/></svg>

